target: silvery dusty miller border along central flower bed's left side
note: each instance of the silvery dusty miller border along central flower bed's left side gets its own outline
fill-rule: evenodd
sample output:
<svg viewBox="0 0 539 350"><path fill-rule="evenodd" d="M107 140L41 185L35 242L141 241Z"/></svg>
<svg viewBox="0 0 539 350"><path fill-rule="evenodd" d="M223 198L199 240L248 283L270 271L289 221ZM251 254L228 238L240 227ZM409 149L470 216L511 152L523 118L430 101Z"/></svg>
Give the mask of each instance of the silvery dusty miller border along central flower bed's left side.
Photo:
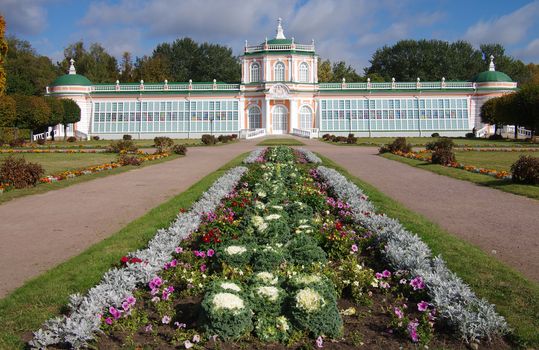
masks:
<svg viewBox="0 0 539 350"><path fill-rule="evenodd" d="M45 322L41 329L34 332L34 339L29 345L34 349L44 349L58 343L68 343L76 349L86 346L94 334L100 332L100 314L103 310L110 306L119 307L125 298L132 296L137 285L148 283L161 271L163 265L172 259L172 253L179 243L198 228L204 212L217 208L246 171L245 167L229 170L202 194L190 211L180 213L168 228L158 230L146 249L128 254L142 259L144 263L128 263L125 268L112 268L85 296L72 295L69 316Z"/></svg>

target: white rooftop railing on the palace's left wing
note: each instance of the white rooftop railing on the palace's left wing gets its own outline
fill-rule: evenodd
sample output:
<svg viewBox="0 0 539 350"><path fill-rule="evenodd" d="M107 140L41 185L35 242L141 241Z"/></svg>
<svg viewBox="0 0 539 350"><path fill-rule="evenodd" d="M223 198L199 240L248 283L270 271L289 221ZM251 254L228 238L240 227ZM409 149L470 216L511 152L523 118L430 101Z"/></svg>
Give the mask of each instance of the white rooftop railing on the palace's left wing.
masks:
<svg viewBox="0 0 539 350"><path fill-rule="evenodd" d="M239 91L240 84L189 84L189 83L150 83L150 84L107 84L93 85L92 92L126 91Z"/></svg>

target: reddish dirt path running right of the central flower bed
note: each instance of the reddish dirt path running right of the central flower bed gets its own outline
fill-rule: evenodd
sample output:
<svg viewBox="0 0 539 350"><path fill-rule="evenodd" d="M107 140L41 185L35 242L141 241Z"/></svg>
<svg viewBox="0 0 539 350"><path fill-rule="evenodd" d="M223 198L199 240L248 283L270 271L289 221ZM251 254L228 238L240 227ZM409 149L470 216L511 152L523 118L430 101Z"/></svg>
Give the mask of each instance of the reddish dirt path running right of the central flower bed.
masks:
<svg viewBox="0 0 539 350"><path fill-rule="evenodd" d="M302 140L407 208L539 281L539 201L417 169L372 147Z"/></svg>

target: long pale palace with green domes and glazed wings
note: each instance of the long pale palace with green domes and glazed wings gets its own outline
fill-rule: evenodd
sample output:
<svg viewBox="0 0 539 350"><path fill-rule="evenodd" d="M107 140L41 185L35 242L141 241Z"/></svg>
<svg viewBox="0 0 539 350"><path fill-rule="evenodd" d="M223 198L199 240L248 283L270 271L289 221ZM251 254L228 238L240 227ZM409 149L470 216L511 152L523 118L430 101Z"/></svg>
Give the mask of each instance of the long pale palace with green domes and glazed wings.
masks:
<svg viewBox="0 0 539 350"><path fill-rule="evenodd" d="M495 70L493 57L489 70L470 81L319 83L317 65L314 41L286 38L279 19L274 39L245 43L240 83L95 84L76 74L71 60L69 73L47 94L79 104L81 120L70 132L87 138L463 136L474 128L485 131L480 108L486 100L517 88Z"/></svg>

